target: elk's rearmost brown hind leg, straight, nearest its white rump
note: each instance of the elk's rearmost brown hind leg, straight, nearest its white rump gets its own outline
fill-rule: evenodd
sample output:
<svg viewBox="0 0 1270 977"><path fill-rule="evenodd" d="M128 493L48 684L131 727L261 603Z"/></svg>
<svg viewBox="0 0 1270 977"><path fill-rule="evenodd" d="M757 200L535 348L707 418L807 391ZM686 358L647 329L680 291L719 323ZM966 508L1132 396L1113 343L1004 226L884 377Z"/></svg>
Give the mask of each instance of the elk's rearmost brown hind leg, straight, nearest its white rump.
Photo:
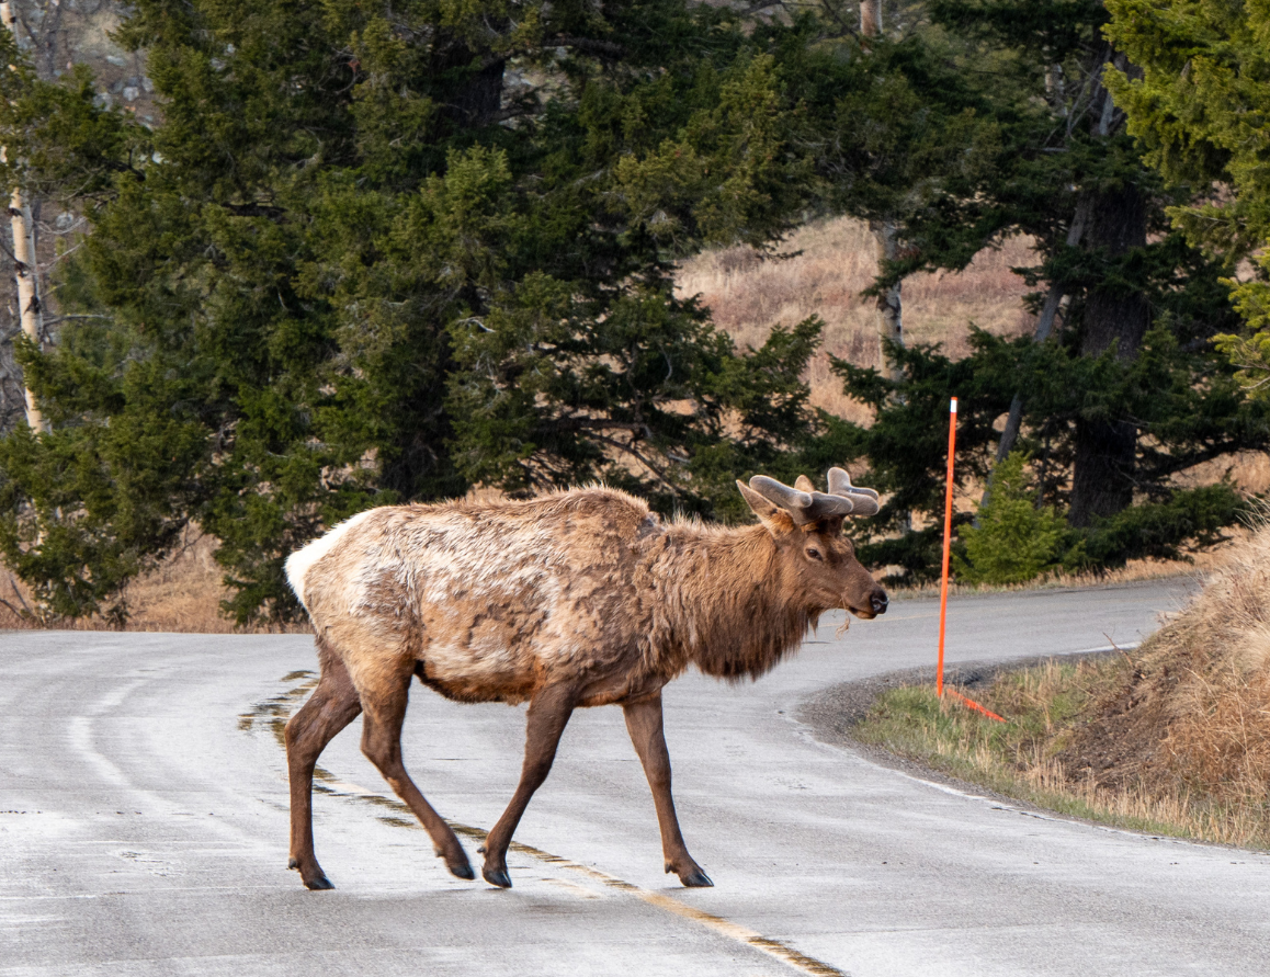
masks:
<svg viewBox="0 0 1270 977"><path fill-rule="evenodd" d="M314 694L287 722L287 775L291 783L291 852L288 868L298 869L310 889L330 889L330 879L314 854L312 789L318 757L340 729L362 711L357 690L339 657L318 644L321 678Z"/></svg>

